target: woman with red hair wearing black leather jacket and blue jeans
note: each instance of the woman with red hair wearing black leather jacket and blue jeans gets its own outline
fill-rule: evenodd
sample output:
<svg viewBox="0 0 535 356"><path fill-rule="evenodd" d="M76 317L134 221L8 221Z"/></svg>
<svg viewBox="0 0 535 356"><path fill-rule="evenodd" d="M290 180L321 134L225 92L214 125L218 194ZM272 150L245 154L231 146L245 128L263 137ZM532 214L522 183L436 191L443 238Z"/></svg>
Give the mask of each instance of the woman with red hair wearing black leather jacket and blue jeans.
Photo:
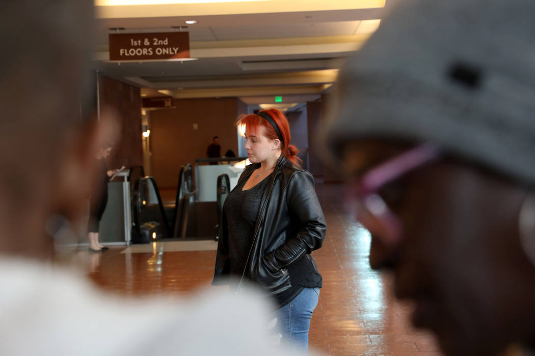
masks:
<svg viewBox="0 0 535 356"><path fill-rule="evenodd" d="M277 303L282 340L307 352L322 276L310 253L326 225L314 177L297 163L286 116L277 109L244 115L249 164L227 196L212 284L240 291L253 281ZM235 277L230 280L230 277Z"/></svg>

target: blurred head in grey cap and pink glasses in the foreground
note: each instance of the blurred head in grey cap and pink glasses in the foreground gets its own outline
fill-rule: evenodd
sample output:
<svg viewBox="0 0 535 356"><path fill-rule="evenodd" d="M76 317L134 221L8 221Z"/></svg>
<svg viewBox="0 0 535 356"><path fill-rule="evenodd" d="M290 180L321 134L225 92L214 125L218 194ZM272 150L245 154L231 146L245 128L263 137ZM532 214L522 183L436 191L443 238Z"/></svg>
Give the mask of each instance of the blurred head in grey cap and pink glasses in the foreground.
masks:
<svg viewBox="0 0 535 356"><path fill-rule="evenodd" d="M339 75L325 140L370 265L448 355L535 346L535 3L406 0Z"/></svg>

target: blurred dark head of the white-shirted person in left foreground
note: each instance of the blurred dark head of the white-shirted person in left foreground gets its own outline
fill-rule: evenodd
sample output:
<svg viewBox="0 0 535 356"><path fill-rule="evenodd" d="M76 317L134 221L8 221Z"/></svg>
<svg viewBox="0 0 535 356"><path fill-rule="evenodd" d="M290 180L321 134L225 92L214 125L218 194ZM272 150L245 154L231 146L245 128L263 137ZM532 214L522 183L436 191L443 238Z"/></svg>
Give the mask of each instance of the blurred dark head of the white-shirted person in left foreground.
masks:
<svg viewBox="0 0 535 356"><path fill-rule="evenodd" d="M100 144L86 120L93 17L91 0L0 3L1 254L50 256L47 221L80 216Z"/></svg>

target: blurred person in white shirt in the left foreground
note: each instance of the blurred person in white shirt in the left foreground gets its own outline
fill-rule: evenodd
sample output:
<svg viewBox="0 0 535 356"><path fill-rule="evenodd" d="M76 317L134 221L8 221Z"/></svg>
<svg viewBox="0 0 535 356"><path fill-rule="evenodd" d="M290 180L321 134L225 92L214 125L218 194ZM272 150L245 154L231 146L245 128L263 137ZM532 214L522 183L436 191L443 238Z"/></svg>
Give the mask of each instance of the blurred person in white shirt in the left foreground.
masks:
<svg viewBox="0 0 535 356"><path fill-rule="evenodd" d="M255 296L115 297L51 263L56 241L77 241L114 131L109 109L99 124L88 110L93 26L92 0L0 2L0 354L288 355L266 339Z"/></svg>

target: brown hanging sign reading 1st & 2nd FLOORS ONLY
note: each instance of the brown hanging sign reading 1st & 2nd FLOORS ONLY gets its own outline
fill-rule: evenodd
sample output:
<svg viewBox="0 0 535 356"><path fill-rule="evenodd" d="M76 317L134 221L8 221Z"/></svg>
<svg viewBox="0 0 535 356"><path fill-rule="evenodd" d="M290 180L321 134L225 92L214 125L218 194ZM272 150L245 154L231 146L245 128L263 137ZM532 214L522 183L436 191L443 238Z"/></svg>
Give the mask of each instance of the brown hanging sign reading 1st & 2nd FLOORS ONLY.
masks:
<svg viewBox="0 0 535 356"><path fill-rule="evenodd" d="M189 59L189 32L110 34L110 61Z"/></svg>

